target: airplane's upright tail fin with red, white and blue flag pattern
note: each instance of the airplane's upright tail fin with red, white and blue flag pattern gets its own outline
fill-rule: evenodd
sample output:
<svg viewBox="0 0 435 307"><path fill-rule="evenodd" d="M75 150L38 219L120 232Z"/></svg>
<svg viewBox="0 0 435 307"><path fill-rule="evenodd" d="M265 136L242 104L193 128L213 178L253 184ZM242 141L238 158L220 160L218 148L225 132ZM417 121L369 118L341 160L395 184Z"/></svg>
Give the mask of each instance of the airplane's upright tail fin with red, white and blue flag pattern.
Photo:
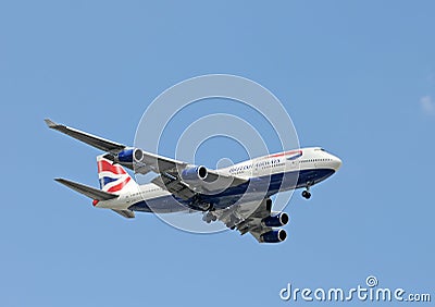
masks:
<svg viewBox="0 0 435 307"><path fill-rule="evenodd" d="M97 157L98 179L100 188L108 193L120 193L130 188L136 188L136 182L120 164L113 164L105 159L104 155Z"/></svg>

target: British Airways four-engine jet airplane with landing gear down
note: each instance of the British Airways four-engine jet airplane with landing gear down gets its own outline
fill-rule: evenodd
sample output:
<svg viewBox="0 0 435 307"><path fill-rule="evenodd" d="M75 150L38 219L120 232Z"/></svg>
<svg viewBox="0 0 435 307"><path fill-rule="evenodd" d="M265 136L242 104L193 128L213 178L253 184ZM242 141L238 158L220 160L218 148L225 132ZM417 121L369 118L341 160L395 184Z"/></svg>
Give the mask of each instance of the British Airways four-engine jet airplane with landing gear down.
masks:
<svg viewBox="0 0 435 307"><path fill-rule="evenodd" d="M268 155L227 168L211 170L174 160L140 148L128 147L53 121L48 127L86 143L105 154L97 156L100 188L66 179L57 182L92 199L96 208L112 209L132 219L136 211L171 213L202 212L207 223L221 221L240 234L250 233L260 243L284 242L286 212L272 211L271 196L278 192L310 188L326 180L341 160L321 147ZM157 176L139 185L124 169Z"/></svg>

